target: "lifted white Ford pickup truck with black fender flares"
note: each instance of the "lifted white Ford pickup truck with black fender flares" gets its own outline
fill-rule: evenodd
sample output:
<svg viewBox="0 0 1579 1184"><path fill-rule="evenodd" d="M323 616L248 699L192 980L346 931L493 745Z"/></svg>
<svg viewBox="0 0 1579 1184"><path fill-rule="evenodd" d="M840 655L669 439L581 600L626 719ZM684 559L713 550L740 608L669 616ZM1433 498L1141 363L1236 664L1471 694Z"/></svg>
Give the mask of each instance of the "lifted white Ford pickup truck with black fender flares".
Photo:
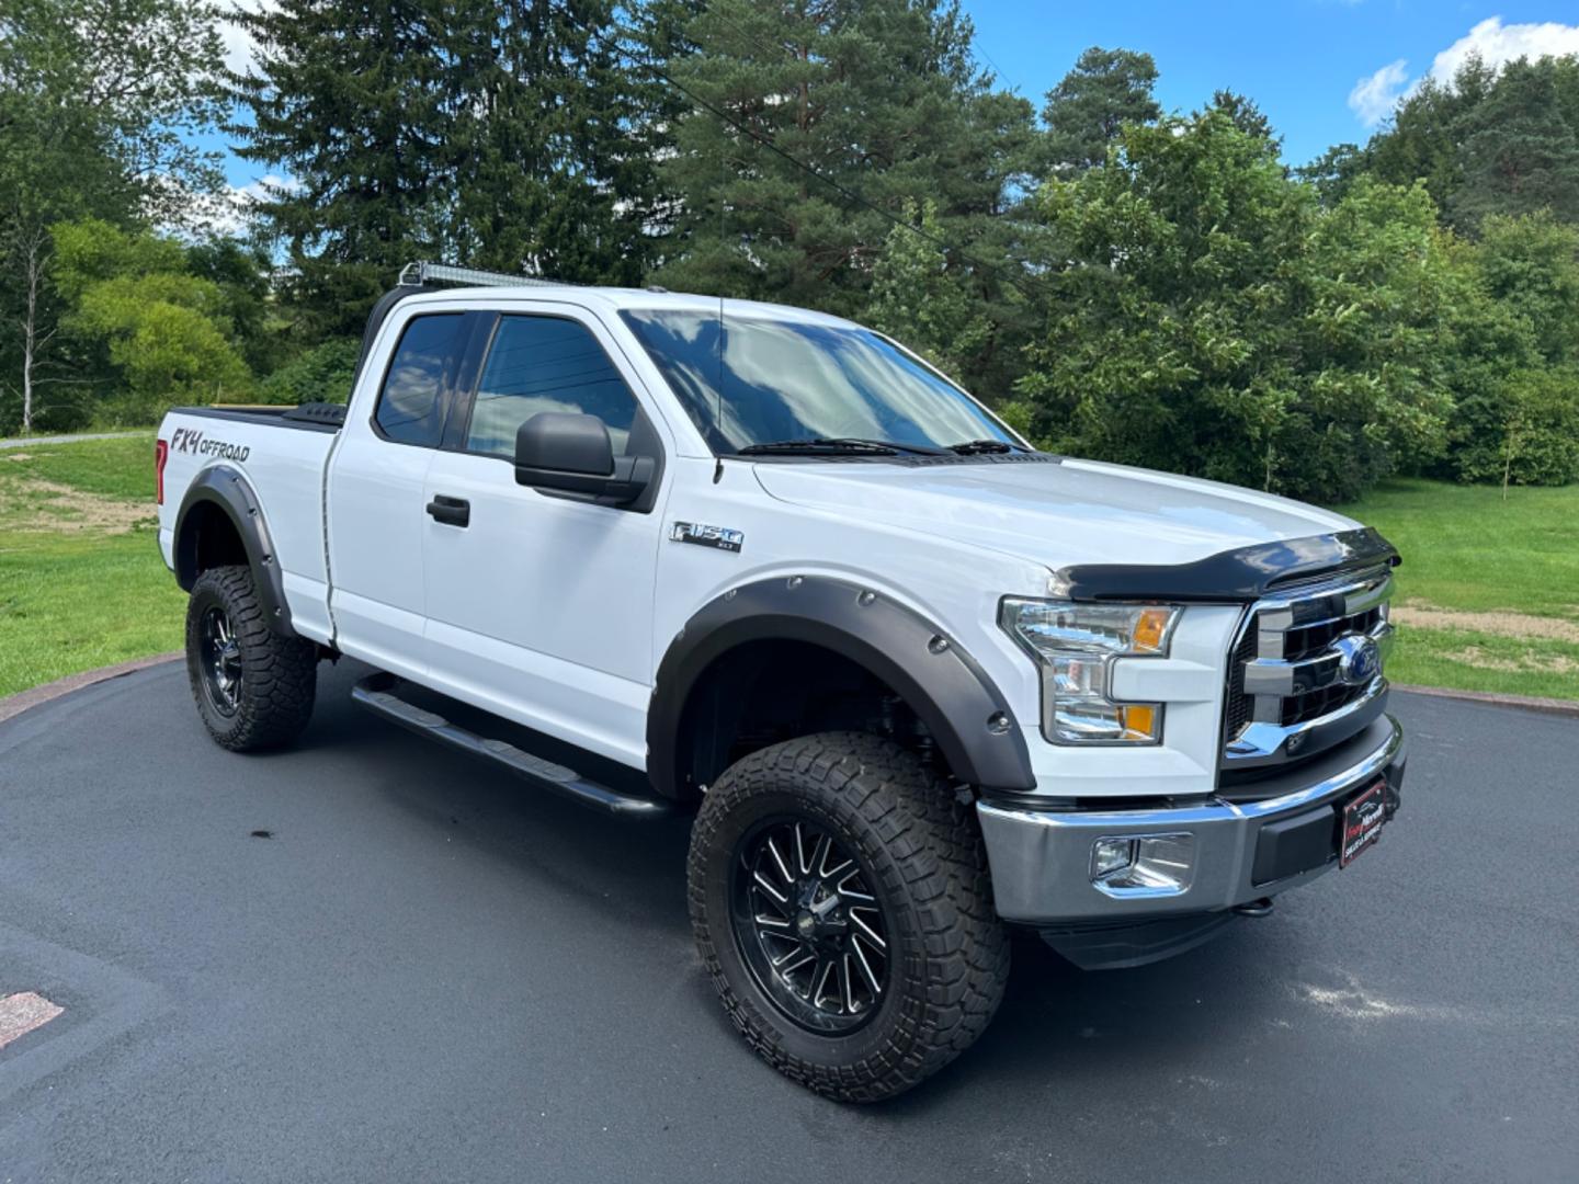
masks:
<svg viewBox="0 0 1579 1184"><path fill-rule="evenodd" d="M1165 957L1393 818L1374 530L1037 451L835 317L436 278L346 406L164 420L197 710L286 744L347 655L393 723L693 811L701 960L791 1078L892 1096L987 1026L1007 927Z"/></svg>

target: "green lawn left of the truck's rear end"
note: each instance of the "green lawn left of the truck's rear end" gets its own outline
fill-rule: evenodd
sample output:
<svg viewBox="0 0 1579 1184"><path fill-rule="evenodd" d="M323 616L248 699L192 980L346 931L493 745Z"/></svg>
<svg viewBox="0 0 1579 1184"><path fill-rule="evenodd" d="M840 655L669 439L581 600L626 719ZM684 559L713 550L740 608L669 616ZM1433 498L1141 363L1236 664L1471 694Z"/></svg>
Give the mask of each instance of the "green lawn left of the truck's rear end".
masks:
<svg viewBox="0 0 1579 1184"><path fill-rule="evenodd" d="M0 695L180 649L153 434L0 450Z"/></svg>

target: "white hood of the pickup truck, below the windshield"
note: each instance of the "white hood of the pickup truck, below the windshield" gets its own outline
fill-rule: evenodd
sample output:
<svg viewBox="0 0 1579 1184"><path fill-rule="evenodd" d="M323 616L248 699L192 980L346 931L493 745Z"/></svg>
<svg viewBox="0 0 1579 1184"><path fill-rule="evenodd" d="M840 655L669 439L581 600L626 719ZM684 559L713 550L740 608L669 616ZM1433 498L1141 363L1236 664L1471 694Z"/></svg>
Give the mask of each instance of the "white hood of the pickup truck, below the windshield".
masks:
<svg viewBox="0 0 1579 1184"><path fill-rule="evenodd" d="M758 463L772 496L1061 568L1187 564L1353 519L1287 497L1097 461Z"/></svg>

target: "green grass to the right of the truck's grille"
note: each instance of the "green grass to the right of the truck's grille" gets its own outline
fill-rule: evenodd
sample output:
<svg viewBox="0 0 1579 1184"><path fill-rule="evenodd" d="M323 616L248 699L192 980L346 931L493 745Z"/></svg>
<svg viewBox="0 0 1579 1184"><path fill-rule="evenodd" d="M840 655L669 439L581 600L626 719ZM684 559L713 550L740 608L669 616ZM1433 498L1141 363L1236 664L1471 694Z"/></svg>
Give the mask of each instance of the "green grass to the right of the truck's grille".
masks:
<svg viewBox="0 0 1579 1184"><path fill-rule="evenodd" d="M1497 488L1399 480L1337 508L1397 546L1394 603L1426 613L1399 630L1396 682L1579 699L1579 486L1505 502Z"/></svg>

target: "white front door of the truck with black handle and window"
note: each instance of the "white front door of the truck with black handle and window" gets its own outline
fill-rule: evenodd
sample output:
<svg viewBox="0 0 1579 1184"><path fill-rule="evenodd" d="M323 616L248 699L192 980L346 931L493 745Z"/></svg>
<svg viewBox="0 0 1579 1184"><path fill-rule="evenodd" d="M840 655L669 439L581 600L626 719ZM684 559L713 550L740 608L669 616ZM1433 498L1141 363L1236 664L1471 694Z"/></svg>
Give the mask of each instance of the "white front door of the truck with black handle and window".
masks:
<svg viewBox="0 0 1579 1184"><path fill-rule="evenodd" d="M647 511L594 505L516 485L513 459L516 428L556 410L597 415L616 455L662 463L662 420L595 317L543 308L496 319L426 472L426 500L464 507L423 523L429 684L643 767L666 489Z"/></svg>

